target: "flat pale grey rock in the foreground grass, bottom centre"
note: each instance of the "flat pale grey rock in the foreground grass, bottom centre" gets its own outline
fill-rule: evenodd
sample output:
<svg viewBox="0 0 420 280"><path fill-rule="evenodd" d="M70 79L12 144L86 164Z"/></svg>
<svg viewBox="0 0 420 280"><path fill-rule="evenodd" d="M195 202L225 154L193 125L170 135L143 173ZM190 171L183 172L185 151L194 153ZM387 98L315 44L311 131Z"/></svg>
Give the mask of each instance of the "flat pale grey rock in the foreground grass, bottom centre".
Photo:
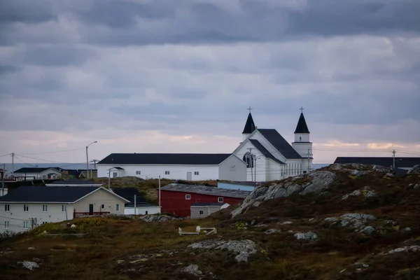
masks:
<svg viewBox="0 0 420 280"><path fill-rule="evenodd" d="M250 255L257 253L257 247L254 241L252 240L230 240L230 241L222 241L220 239L214 240L205 240L198 243L190 244L188 248L193 249L209 249L214 248L216 250L223 250L227 249L228 251L232 251L237 253L235 256L235 260L237 262L248 262L248 258Z"/></svg>

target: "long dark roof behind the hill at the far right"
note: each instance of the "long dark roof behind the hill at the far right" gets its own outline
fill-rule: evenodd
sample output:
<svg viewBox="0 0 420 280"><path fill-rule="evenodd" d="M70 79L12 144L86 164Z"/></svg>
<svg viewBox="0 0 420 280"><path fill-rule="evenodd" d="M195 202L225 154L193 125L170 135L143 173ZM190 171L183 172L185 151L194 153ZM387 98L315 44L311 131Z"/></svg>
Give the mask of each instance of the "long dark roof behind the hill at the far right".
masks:
<svg viewBox="0 0 420 280"><path fill-rule="evenodd" d="M359 163L362 165L380 165L391 167L393 165L392 157L338 157L334 163L348 164ZM395 157L395 167L411 168L414 165L420 165L420 158L397 158Z"/></svg>

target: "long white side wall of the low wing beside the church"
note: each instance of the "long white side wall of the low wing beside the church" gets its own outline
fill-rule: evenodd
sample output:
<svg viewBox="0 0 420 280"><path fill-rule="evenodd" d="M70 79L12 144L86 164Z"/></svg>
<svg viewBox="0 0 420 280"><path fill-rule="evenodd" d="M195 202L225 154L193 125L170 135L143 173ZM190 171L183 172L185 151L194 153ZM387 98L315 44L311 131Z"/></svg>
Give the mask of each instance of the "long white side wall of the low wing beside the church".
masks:
<svg viewBox="0 0 420 280"><path fill-rule="evenodd" d="M124 172L120 173L124 174L123 176L136 176L143 179L158 178L160 175L162 179L188 180L188 173L190 173L191 180L201 181L216 180L219 175L218 165L98 165L98 177L108 177L106 169L111 167L123 168Z"/></svg>

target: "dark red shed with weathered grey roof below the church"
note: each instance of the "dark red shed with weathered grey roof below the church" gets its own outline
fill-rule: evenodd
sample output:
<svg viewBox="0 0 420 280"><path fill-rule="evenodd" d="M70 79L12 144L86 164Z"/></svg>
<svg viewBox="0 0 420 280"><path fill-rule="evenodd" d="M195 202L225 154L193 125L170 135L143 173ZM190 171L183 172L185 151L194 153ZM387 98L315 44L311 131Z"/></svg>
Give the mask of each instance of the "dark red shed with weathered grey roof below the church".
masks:
<svg viewBox="0 0 420 280"><path fill-rule="evenodd" d="M191 205L195 202L226 202L235 205L250 193L245 190L172 183L160 188L161 212L188 217L191 214Z"/></svg>

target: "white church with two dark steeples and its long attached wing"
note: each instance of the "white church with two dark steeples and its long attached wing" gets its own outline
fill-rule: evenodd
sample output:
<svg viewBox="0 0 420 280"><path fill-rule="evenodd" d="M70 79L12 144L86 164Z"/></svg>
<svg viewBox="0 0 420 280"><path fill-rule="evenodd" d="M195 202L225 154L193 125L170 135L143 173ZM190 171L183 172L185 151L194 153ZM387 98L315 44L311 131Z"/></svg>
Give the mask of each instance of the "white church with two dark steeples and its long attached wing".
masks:
<svg viewBox="0 0 420 280"><path fill-rule="evenodd" d="M311 171L312 143L303 108L291 145L276 130L255 126L249 111L242 141L232 153L111 153L98 162L98 177L261 182Z"/></svg>

